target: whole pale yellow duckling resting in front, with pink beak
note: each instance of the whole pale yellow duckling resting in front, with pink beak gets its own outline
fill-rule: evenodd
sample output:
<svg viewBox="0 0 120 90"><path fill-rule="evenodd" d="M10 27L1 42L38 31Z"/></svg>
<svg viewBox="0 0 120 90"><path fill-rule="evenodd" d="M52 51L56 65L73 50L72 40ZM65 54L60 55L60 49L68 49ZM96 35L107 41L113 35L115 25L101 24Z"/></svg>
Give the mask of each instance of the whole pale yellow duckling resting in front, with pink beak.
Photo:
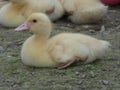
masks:
<svg viewBox="0 0 120 90"><path fill-rule="evenodd" d="M109 50L109 42L83 34L62 33L49 38L52 25L42 13L33 13L15 29L34 33L23 44L21 57L26 65L35 67L65 68L74 62L89 63Z"/></svg>

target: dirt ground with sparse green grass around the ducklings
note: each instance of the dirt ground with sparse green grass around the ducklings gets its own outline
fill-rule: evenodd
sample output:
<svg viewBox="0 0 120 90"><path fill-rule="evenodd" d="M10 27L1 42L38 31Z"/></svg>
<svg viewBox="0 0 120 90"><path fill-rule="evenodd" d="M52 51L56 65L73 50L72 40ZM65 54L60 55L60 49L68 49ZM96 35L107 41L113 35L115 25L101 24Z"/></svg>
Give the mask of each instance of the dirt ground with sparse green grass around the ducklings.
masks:
<svg viewBox="0 0 120 90"><path fill-rule="evenodd" d="M120 90L120 6L110 8L97 24L75 25L63 18L54 23L52 35L61 32L107 40L112 50L93 63L63 70L28 67L20 49L31 33L0 26L0 90Z"/></svg>

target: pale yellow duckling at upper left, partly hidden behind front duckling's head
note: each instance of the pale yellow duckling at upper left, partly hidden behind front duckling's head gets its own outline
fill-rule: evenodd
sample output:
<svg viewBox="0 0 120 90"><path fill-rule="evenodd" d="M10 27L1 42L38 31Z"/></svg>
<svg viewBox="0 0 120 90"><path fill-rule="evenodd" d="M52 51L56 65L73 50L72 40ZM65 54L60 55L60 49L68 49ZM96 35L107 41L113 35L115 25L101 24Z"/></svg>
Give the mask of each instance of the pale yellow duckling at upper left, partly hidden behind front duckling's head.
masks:
<svg viewBox="0 0 120 90"><path fill-rule="evenodd" d="M9 3L0 10L0 24L17 27L34 12L47 13L52 21L64 14L63 7L58 0L9 0Z"/></svg>

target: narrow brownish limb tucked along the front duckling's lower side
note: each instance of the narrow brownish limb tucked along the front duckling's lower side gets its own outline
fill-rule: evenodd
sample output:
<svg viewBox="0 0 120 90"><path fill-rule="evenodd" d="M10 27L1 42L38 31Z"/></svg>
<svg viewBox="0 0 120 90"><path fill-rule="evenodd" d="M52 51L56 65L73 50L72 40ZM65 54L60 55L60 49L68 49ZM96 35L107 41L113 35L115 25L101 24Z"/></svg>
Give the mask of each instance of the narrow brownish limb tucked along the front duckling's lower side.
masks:
<svg viewBox="0 0 120 90"><path fill-rule="evenodd" d="M74 57L72 60L69 60L68 62L66 63L61 63L57 66L57 69L64 69L68 66L70 66L71 64L75 63L75 62L78 62L78 61L82 61L82 62L85 62L86 60L88 59L88 57L86 58L80 58L80 57Z"/></svg>

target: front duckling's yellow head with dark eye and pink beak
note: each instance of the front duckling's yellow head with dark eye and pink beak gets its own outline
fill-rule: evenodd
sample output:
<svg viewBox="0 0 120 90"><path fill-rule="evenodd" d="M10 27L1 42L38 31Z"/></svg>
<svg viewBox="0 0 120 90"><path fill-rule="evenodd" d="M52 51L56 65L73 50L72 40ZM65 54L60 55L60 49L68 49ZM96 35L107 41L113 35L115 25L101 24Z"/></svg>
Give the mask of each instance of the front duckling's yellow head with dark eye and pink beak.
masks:
<svg viewBox="0 0 120 90"><path fill-rule="evenodd" d="M29 30L38 35L50 35L52 25L46 14L33 13L26 22L20 25L15 31Z"/></svg>

